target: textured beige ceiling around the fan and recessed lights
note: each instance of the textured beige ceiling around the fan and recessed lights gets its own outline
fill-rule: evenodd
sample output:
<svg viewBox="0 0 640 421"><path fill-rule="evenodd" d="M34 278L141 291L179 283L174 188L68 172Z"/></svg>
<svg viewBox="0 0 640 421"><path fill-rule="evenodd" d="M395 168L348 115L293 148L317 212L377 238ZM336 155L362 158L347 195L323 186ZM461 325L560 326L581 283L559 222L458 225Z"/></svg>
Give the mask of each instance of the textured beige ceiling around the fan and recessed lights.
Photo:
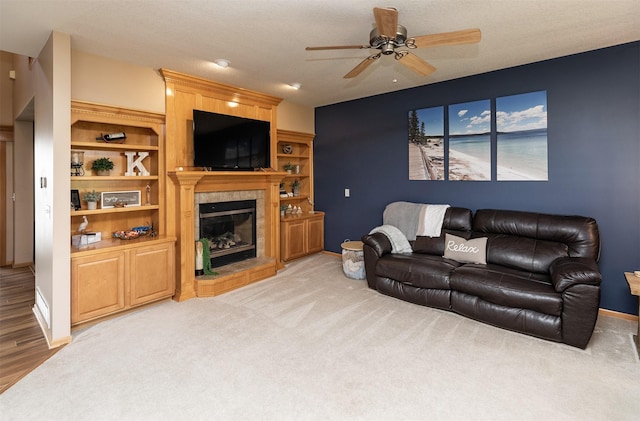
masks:
<svg viewBox="0 0 640 421"><path fill-rule="evenodd" d="M480 28L482 41L414 50L438 69L427 77L387 56L346 80L367 50L305 51L368 44L374 6L398 9L409 37ZM35 57L52 30L76 50L315 107L637 41L640 0L0 0L0 50Z"/></svg>

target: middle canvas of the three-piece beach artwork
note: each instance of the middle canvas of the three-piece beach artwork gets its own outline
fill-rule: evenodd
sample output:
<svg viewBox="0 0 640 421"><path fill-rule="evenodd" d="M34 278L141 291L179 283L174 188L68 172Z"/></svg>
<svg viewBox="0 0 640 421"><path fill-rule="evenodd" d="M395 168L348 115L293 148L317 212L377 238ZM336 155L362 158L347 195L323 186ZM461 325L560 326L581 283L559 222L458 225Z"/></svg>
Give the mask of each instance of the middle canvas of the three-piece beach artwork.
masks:
<svg viewBox="0 0 640 421"><path fill-rule="evenodd" d="M491 180L491 101L449 106L449 180Z"/></svg>

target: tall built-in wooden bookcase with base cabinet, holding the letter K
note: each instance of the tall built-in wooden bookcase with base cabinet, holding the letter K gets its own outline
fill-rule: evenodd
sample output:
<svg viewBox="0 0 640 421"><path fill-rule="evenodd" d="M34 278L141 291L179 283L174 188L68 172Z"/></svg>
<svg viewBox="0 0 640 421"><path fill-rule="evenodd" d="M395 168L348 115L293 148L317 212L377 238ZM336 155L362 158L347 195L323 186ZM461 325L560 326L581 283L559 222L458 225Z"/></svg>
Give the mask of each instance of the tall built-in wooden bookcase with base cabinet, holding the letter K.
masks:
<svg viewBox="0 0 640 421"><path fill-rule="evenodd" d="M84 157L81 168L71 165L70 175L81 205L70 211L72 324L174 294L176 239L166 235L164 120L163 114L71 103L70 161L77 152ZM104 135L121 132L125 138L104 140ZM109 175L91 169L99 158L113 162ZM104 200L89 209L82 199L90 191L125 197L126 203ZM138 200L132 202L132 197ZM101 241L73 241L84 218L86 230L100 233ZM152 226L156 235L112 238L115 231L139 226Z"/></svg>

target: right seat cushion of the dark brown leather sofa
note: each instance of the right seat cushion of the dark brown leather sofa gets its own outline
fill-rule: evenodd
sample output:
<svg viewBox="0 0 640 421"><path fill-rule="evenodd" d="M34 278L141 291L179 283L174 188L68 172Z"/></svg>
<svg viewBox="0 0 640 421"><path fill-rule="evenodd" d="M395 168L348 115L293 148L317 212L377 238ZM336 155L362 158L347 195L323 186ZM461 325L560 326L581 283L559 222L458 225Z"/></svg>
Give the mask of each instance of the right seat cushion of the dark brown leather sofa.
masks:
<svg viewBox="0 0 640 421"><path fill-rule="evenodd" d="M466 264L450 277L451 289L506 307L560 316L562 295L549 277L498 265Z"/></svg>

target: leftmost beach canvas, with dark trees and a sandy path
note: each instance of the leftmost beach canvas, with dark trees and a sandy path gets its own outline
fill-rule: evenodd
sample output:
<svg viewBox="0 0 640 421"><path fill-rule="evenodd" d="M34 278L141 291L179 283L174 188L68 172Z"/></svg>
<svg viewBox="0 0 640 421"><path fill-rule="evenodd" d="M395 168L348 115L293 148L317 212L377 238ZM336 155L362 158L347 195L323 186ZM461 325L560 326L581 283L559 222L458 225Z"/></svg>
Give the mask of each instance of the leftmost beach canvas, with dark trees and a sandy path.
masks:
<svg viewBox="0 0 640 421"><path fill-rule="evenodd" d="M444 107L409 112L409 180L444 180Z"/></svg>

